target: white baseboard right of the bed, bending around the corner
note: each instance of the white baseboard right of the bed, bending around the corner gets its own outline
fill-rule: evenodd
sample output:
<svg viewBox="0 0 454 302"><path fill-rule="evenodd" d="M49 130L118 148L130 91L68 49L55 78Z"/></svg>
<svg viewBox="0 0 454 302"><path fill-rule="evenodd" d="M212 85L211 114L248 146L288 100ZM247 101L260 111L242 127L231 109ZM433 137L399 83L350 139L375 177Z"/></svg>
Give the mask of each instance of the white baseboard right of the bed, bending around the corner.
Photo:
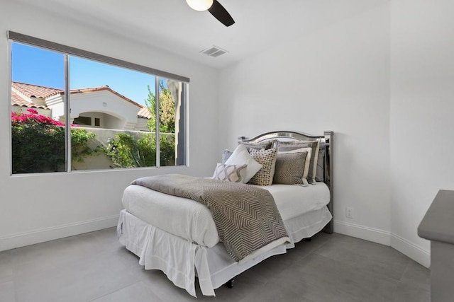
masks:
<svg viewBox="0 0 454 302"><path fill-rule="evenodd" d="M429 250L421 248L419 245L388 231L335 220L334 232L382 245L389 245L424 267L429 267L431 264L431 252Z"/></svg>

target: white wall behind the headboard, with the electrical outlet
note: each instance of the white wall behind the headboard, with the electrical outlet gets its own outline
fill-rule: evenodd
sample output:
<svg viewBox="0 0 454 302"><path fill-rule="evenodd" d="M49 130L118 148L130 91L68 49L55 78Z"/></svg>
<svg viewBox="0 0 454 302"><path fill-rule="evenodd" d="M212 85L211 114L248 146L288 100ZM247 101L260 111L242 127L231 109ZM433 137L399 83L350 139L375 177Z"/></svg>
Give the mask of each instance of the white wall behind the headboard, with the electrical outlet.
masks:
<svg viewBox="0 0 454 302"><path fill-rule="evenodd" d="M335 231L390 244L389 4L223 70L219 93L219 154L240 135L333 130Z"/></svg>

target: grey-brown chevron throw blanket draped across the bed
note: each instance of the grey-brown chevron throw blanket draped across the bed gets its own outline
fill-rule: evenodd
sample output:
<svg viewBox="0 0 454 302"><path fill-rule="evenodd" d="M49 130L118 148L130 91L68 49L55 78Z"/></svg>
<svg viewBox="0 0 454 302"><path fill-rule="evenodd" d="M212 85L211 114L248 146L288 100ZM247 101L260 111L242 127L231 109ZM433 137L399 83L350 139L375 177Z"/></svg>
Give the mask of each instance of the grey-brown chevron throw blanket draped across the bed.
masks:
<svg viewBox="0 0 454 302"><path fill-rule="evenodd" d="M289 241L275 200L260 187L180 174L138 178L132 185L205 204L219 238L235 261Z"/></svg>

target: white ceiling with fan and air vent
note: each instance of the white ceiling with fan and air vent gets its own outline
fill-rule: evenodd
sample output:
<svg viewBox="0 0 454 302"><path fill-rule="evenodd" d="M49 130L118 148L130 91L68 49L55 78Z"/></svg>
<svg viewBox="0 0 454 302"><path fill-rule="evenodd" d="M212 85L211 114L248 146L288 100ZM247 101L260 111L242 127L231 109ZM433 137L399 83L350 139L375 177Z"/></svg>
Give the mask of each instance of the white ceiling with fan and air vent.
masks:
<svg viewBox="0 0 454 302"><path fill-rule="evenodd" d="M389 0L219 0L230 27L185 0L19 0L201 64L223 68ZM200 54L216 45L228 54Z"/></svg>

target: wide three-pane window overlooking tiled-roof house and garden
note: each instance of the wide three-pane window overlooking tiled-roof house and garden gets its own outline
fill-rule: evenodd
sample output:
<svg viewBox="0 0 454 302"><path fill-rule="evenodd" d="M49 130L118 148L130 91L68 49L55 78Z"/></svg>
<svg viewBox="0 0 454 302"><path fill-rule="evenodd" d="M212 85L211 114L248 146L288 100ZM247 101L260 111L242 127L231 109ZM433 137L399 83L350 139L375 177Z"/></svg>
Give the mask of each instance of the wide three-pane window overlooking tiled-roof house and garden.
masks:
<svg viewBox="0 0 454 302"><path fill-rule="evenodd" d="M9 38L12 174L186 164L189 79Z"/></svg>

